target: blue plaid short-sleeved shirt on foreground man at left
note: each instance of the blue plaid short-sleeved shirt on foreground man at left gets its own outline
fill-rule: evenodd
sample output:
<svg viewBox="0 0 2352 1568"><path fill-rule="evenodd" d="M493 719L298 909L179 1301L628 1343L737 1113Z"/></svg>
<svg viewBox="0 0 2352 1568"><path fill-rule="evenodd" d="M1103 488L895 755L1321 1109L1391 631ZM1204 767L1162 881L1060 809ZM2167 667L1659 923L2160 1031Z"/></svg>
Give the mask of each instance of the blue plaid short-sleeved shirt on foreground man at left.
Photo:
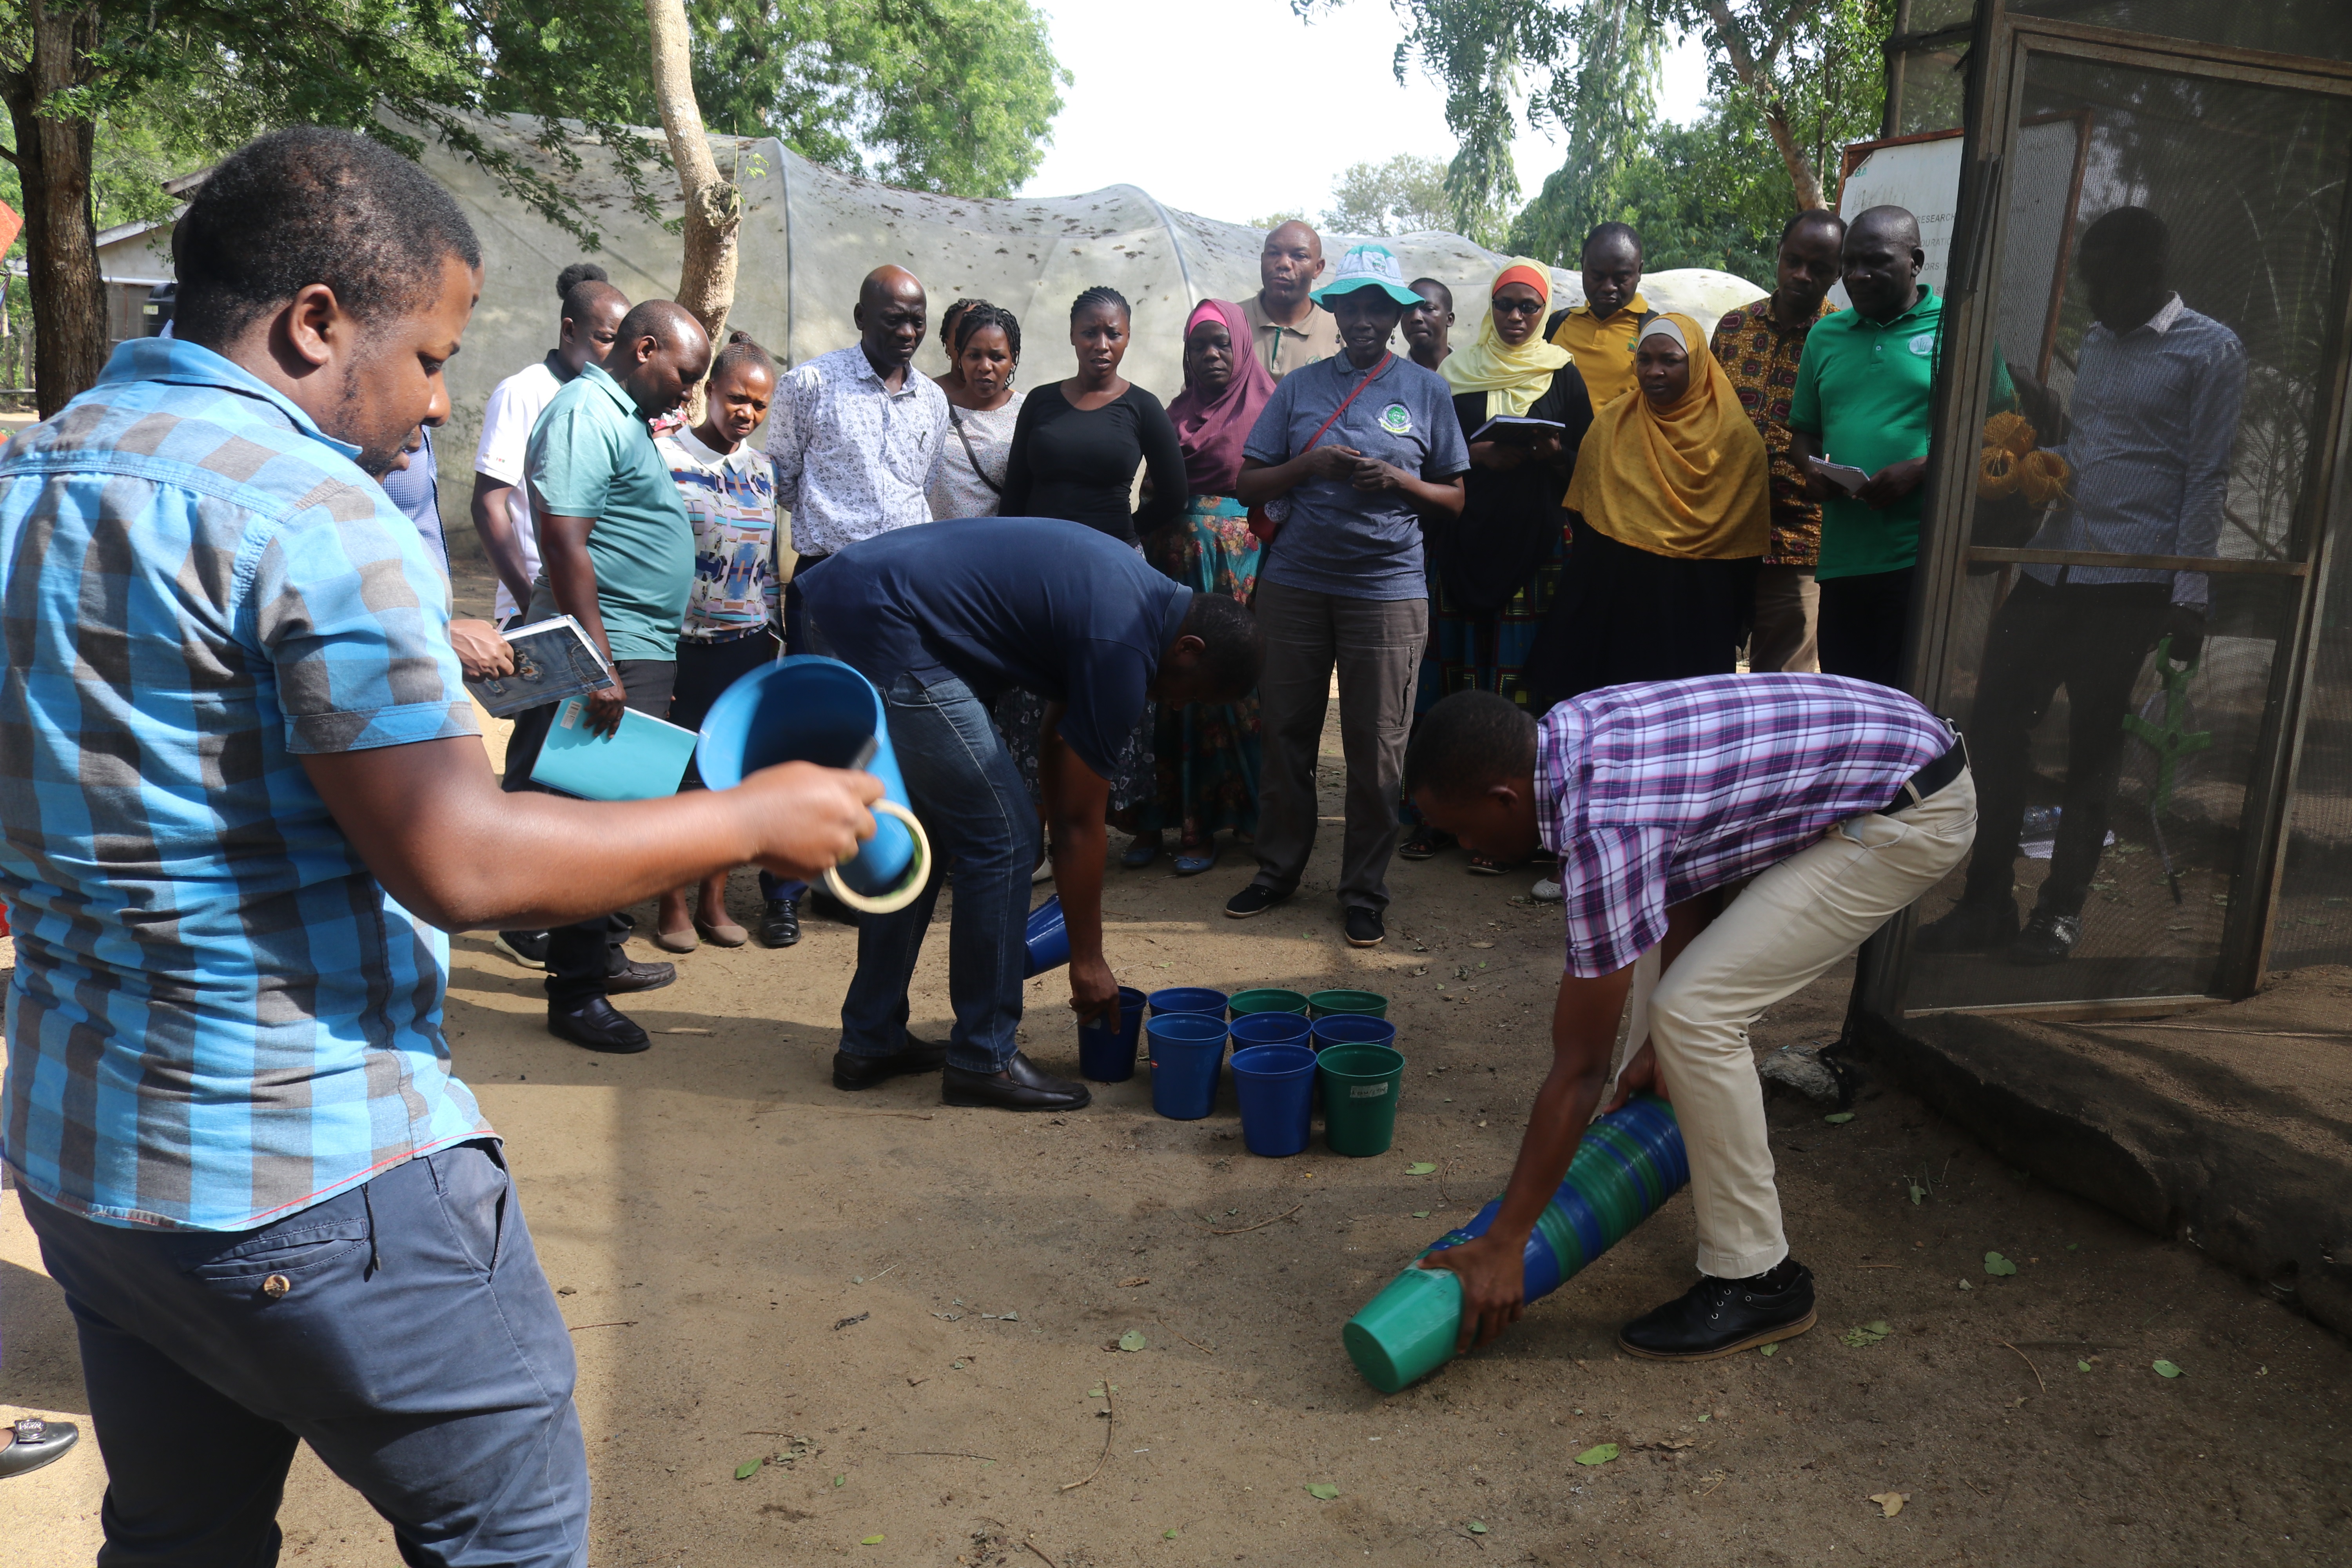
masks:
<svg viewBox="0 0 2352 1568"><path fill-rule="evenodd" d="M480 733L355 454L172 339L0 449L0 1152L71 1213L249 1229L489 1131L449 940L301 766Z"/></svg>

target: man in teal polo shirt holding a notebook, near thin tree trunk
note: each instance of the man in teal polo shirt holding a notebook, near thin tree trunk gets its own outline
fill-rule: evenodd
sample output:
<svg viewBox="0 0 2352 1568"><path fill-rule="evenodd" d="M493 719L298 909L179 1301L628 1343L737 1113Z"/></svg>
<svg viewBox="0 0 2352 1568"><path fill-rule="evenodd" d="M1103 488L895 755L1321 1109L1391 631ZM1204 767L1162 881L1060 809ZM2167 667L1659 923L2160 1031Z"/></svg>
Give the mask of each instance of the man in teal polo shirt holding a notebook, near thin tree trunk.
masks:
<svg viewBox="0 0 2352 1568"><path fill-rule="evenodd" d="M539 517L539 581L522 618L572 616L604 651L614 684L588 698L588 722L607 733L623 708L656 719L670 712L694 524L647 421L680 407L708 369L701 322L649 299L621 317L604 364L567 381L532 425L524 480ZM515 719L508 790L529 788L553 719L555 705ZM621 1053L652 1044L607 997L668 985L677 969L630 964L621 931L619 917L604 914L548 933L548 1032L557 1039Z"/></svg>

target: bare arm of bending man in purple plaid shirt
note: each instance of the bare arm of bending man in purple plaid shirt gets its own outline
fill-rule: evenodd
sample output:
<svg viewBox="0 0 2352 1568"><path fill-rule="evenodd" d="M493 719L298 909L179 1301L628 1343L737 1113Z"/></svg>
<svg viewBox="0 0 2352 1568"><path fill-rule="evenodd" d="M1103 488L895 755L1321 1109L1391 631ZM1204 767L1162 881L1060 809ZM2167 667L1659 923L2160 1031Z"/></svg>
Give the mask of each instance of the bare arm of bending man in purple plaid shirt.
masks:
<svg viewBox="0 0 2352 1568"><path fill-rule="evenodd" d="M1661 971L1715 919L1715 896L1691 898L1665 912ZM1430 1253L1425 1267L1454 1269L1463 1281L1463 1326L1456 1349L1484 1345L1519 1321L1526 1312L1526 1237L1585 1140L1602 1088L1609 1084L1609 1058L1616 1053L1618 1020L1632 990L1632 964L1606 976L1559 976L1552 1004L1552 1072L1536 1091L1536 1105L1519 1138L1519 1161L1503 1190L1503 1206L1486 1234L1463 1246ZM1637 1065L1656 1074L1649 1046L1625 1065L1625 1079ZM1618 1098L1623 1103L1623 1095Z"/></svg>

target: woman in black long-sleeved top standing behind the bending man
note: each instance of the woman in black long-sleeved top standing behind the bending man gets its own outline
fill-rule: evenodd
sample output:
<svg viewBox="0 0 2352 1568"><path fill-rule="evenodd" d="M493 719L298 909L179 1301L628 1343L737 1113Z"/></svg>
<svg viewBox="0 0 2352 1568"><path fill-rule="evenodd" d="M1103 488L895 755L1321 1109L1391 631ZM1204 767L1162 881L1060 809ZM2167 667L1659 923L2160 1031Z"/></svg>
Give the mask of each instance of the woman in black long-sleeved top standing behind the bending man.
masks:
<svg viewBox="0 0 2352 1568"><path fill-rule="evenodd" d="M1070 306L1077 374L1033 390L1021 404L1004 470L1004 517L1068 517L1134 545L1183 515L1176 425L1157 397L1120 376L1127 327L1117 289L1087 289ZM1129 510L1138 465L1150 489L1143 508Z"/></svg>

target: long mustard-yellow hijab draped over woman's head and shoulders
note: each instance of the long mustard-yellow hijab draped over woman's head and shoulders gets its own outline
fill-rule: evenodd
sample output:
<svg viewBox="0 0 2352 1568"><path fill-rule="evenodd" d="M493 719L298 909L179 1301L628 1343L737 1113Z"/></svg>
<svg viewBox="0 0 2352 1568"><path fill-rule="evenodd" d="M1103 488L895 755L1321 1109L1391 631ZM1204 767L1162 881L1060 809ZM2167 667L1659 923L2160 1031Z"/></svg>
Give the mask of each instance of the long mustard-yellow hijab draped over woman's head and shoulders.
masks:
<svg viewBox="0 0 2352 1568"><path fill-rule="evenodd" d="M1642 336L1682 343L1691 355L1691 388L1661 409L1635 386L1595 414L1562 505L1621 545L1651 555L1764 555L1771 534L1764 437L1708 350L1708 334L1670 313Z"/></svg>

